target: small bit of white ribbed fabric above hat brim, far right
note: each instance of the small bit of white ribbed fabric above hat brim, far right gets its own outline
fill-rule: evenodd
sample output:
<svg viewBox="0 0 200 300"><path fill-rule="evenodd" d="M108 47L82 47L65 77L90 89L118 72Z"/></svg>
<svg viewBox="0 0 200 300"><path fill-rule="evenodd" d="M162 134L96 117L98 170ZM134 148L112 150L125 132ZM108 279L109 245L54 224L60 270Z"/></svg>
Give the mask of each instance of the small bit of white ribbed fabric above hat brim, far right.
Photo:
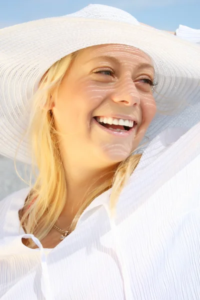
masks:
<svg viewBox="0 0 200 300"><path fill-rule="evenodd" d="M200 44L200 29L193 29L184 25L179 25L175 30L177 36L191 42Z"/></svg>

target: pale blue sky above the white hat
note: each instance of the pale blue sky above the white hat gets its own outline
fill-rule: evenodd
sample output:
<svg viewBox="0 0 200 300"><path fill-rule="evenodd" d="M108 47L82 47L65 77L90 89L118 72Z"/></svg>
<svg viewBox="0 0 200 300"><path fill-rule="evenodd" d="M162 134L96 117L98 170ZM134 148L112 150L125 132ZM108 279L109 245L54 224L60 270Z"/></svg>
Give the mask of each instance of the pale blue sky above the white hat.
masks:
<svg viewBox="0 0 200 300"><path fill-rule="evenodd" d="M0 0L0 28L64 15L90 3L122 8L158 29L174 31L179 24L200 29L200 0Z"/></svg>

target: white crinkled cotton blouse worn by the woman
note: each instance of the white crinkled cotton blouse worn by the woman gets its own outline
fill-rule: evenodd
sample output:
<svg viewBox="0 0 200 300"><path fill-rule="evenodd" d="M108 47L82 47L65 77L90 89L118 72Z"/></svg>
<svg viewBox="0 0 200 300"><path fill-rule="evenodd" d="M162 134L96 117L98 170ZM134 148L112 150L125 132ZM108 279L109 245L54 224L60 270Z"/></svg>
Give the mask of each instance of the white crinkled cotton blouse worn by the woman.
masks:
<svg viewBox="0 0 200 300"><path fill-rule="evenodd" d="M185 132L169 128L150 142L114 218L108 190L46 255L19 229L29 188L2 200L0 299L199 300L200 123Z"/></svg>

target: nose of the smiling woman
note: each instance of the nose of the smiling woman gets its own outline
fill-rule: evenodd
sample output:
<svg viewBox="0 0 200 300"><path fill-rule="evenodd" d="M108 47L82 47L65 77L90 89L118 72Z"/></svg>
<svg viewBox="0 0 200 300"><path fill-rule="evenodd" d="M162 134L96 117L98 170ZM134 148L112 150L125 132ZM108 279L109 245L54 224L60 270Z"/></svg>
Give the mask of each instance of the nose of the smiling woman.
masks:
<svg viewBox="0 0 200 300"><path fill-rule="evenodd" d="M123 80L118 83L112 94L114 102L121 102L126 106L133 106L140 103L140 94L135 86L135 83L130 80Z"/></svg>

